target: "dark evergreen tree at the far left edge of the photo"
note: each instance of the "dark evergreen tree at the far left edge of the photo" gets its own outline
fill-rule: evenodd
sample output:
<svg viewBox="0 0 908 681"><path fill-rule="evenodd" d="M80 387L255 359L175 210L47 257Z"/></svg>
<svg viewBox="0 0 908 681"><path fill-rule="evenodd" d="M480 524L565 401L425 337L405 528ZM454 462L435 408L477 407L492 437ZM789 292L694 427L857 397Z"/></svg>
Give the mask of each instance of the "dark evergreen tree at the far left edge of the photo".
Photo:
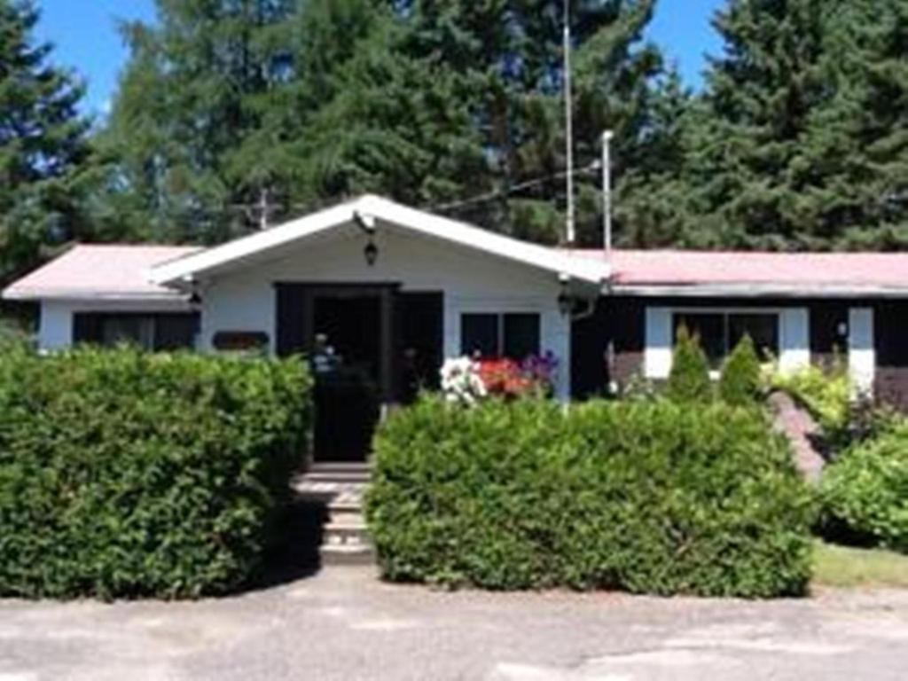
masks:
<svg viewBox="0 0 908 681"><path fill-rule="evenodd" d="M88 229L83 87L36 44L31 2L0 0L0 283Z"/></svg>

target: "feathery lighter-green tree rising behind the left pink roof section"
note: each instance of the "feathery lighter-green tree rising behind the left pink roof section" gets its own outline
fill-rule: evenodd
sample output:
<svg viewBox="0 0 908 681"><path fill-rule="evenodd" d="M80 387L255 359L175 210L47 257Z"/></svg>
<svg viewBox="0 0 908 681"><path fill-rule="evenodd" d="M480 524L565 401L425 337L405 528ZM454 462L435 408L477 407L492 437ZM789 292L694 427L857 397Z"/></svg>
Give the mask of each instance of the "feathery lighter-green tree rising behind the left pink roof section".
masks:
<svg viewBox="0 0 908 681"><path fill-rule="evenodd" d="M219 242L281 204L293 0L157 0L99 138L102 201L135 239ZM278 111L280 116L274 115ZM254 148L255 153L251 153Z"/></svg>

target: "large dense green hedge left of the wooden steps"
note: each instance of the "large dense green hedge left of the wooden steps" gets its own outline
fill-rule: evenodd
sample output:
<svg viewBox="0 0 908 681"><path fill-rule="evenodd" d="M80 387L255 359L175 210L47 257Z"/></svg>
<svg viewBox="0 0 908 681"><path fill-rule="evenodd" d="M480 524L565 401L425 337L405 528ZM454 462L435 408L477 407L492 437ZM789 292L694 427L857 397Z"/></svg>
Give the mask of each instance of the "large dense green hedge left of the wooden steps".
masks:
<svg viewBox="0 0 908 681"><path fill-rule="evenodd" d="M252 577L308 433L298 360L0 354L0 595L198 597Z"/></svg>

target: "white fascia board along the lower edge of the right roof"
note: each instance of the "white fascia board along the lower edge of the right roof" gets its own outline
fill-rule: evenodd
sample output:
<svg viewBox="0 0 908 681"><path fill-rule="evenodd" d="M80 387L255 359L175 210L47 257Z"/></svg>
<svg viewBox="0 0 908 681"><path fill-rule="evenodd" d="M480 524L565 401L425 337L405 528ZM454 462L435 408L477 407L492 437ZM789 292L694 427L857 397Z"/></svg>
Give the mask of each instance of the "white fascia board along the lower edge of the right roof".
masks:
<svg viewBox="0 0 908 681"><path fill-rule="evenodd" d="M908 287L777 284L607 285L607 295L641 298L908 298Z"/></svg>

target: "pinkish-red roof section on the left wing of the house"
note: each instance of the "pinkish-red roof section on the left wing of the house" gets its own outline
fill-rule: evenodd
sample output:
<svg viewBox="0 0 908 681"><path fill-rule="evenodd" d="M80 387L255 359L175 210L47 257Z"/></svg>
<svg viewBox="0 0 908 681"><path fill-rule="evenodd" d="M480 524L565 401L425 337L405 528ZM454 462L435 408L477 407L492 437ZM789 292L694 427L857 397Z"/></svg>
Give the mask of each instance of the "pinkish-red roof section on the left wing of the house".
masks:
<svg viewBox="0 0 908 681"><path fill-rule="evenodd" d="M174 300L182 296L148 280L147 270L197 247L79 244L3 291L11 301Z"/></svg>

